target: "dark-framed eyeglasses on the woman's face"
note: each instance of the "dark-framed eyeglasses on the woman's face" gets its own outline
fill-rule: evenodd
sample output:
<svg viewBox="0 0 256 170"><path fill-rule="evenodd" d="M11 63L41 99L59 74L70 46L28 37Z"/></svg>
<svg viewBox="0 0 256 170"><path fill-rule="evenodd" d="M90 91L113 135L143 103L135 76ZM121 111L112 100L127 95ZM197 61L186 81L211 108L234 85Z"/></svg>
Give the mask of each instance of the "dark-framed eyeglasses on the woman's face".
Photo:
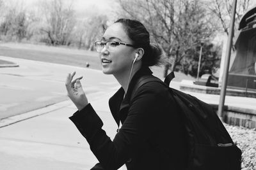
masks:
<svg viewBox="0 0 256 170"><path fill-rule="evenodd" d="M116 41L105 41L105 42L103 42L103 41L96 41L95 42L95 48L96 48L97 52L102 52L104 46L106 46L106 49L108 51L112 51L118 45L126 45L126 46L133 46L134 47L134 45L129 45L127 43L116 42Z"/></svg>

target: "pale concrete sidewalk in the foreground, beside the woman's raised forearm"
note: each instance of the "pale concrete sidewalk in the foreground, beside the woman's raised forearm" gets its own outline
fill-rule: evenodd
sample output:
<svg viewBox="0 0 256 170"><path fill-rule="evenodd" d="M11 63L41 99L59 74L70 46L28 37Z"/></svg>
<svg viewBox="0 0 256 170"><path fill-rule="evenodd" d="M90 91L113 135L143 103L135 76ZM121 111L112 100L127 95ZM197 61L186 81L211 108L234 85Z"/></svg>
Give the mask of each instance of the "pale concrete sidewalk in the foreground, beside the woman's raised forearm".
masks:
<svg viewBox="0 0 256 170"><path fill-rule="evenodd" d="M113 92L107 92L101 99L91 102L102 118L103 128L111 139L117 129L108 108L108 98L112 95ZM88 98L93 97L96 98ZM65 101L25 113L23 118L27 118L20 122L17 122L17 116L2 121L0 169L70 170L93 167L97 159L90 151L86 140L68 119L75 111L74 104ZM16 123L12 124L13 122Z"/></svg>

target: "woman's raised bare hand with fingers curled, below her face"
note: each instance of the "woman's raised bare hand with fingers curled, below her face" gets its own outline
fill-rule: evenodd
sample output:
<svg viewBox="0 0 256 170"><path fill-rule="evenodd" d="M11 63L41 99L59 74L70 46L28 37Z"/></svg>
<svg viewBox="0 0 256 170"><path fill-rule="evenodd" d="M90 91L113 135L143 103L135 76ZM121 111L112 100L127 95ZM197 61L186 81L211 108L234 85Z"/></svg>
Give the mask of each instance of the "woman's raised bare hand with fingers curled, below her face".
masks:
<svg viewBox="0 0 256 170"><path fill-rule="evenodd" d="M72 80L75 74L76 74L76 71L73 72L72 74L68 73L65 85L68 92L68 97L76 105L77 109L80 111L88 104L88 100L87 100L87 97L85 96L83 87L80 82L83 76Z"/></svg>

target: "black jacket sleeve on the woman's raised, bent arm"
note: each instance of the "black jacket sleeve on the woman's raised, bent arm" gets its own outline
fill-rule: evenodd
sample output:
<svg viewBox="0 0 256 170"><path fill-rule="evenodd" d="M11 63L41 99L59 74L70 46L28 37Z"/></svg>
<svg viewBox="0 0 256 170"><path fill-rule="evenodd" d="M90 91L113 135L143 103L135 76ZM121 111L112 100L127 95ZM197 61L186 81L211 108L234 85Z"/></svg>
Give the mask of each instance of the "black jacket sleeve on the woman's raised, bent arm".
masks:
<svg viewBox="0 0 256 170"><path fill-rule="evenodd" d="M143 85L134 96L127 118L113 141L102 130L103 123L90 104L77 111L70 120L86 138L100 165L104 169L118 169L135 157L145 146L145 141L156 132L159 108L163 108L163 99L156 88Z"/></svg>

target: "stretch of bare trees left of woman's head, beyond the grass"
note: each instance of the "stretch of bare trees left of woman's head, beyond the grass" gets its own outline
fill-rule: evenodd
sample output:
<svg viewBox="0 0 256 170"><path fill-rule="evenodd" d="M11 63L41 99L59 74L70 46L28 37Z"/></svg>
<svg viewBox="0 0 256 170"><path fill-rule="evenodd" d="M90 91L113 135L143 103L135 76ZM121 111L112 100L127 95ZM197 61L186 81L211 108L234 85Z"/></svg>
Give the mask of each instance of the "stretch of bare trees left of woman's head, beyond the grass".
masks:
<svg viewBox="0 0 256 170"><path fill-rule="evenodd" d="M0 0L0 40L44 43L52 46L77 46L93 50L102 34L105 15L76 18L75 1L38 1L33 9L6 6ZM21 7L20 7L21 6ZM24 5L23 5L24 6Z"/></svg>

